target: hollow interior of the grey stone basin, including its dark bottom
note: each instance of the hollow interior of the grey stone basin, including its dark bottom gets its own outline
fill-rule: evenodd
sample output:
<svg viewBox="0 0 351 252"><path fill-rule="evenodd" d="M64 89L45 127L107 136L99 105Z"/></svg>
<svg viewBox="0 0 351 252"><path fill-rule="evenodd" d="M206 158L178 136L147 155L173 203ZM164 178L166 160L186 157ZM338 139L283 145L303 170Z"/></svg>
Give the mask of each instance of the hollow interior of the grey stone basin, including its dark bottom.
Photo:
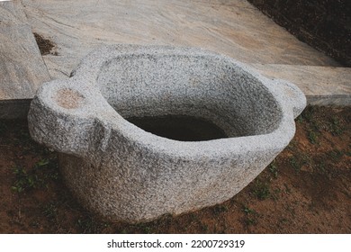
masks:
<svg viewBox="0 0 351 252"><path fill-rule="evenodd" d="M96 81L123 118L168 139L266 134L283 118L257 77L220 57L127 54L105 62Z"/></svg>

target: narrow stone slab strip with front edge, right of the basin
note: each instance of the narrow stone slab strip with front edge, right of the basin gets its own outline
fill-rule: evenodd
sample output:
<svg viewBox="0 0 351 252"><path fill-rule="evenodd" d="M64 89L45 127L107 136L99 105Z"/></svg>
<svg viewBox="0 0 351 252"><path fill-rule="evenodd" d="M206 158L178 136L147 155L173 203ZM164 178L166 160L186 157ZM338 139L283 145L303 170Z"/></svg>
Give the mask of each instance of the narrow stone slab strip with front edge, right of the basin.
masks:
<svg viewBox="0 0 351 252"><path fill-rule="evenodd" d="M299 86L313 105L351 106L351 68L253 64L268 77L282 78Z"/></svg>

